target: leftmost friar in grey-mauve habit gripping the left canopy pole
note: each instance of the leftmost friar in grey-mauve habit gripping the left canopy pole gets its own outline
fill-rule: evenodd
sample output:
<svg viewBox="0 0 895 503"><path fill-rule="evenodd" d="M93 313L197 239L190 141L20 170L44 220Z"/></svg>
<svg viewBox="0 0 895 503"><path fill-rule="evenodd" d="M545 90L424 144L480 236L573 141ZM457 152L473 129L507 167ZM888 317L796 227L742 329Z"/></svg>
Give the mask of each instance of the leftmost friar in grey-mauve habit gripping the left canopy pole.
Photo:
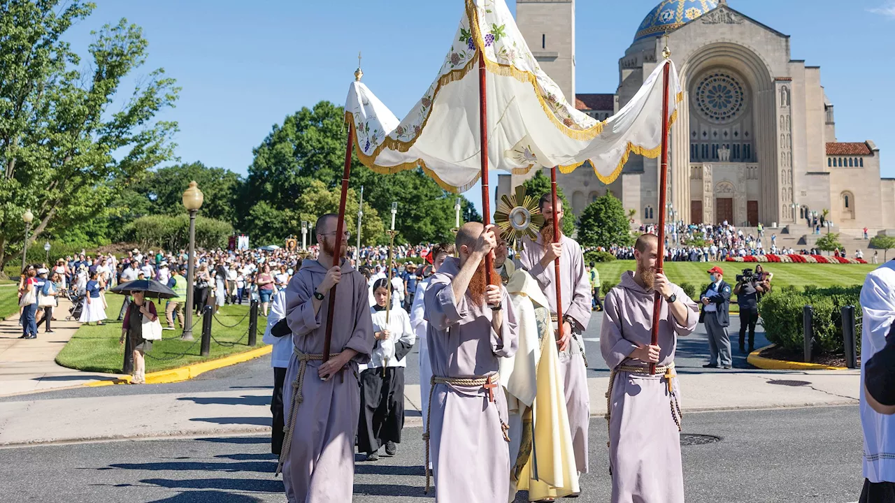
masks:
<svg viewBox="0 0 895 503"><path fill-rule="evenodd" d="M304 260L286 287L286 321L294 351L283 391L286 418L280 467L290 503L344 503L354 487L354 437L361 409L358 364L374 344L367 280L345 260L349 233L337 215L315 226L320 255ZM334 257L337 240L338 260ZM336 287L335 292L333 288ZM323 359L329 297L336 295L331 353Z"/></svg>

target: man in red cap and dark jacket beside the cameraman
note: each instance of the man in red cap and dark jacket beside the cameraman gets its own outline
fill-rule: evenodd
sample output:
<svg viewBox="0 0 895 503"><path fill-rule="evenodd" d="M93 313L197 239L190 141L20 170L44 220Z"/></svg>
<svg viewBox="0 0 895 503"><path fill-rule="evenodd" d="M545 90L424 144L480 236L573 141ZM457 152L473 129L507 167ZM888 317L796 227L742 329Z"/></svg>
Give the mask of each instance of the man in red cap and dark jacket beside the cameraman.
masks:
<svg viewBox="0 0 895 503"><path fill-rule="evenodd" d="M729 369L733 366L727 332L730 325L730 286L724 281L724 270L720 267L715 266L708 273L711 283L699 295L699 302L703 304L699 322L705 323L705 329L709 332L709 362L703 367L716 369L720 365Z"/></svg>

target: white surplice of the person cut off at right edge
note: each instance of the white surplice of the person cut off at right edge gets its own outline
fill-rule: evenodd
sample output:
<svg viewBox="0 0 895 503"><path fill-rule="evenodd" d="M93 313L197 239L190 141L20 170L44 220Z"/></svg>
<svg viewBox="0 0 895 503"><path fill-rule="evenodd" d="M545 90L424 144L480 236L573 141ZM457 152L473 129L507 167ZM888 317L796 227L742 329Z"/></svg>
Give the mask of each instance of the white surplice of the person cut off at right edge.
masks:
<svg viewBox="0 0 895 503"><path fill-rule="evenodd" d="M886 345L895 321L895 260L867 275L861 289L861 426L864 429L864 476L870 482L895 482L895 415L877 413L864 398L865 364Z"/></svg>

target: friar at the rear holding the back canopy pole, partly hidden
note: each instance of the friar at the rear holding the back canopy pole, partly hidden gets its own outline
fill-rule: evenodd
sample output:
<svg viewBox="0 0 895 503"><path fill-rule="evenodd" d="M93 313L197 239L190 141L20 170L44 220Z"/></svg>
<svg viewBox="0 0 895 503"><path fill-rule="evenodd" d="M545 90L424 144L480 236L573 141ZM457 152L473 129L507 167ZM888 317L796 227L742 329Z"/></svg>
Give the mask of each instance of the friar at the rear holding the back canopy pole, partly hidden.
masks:
<svg viewBox="0 0 895 503"><path fill-rule="evenodd" d="M574 239L562 234L563 208L557 201L559 226L553 227L553 201L550 194L540 200L541 213L547 224L541 227L537 241L526 238L520 257L522 268L528 271L541 286L541 292L550 303L550 315L554 323L561 324L558 337L559 374L565 385L566 408L572 445L575 449L575 466L579 473L587 473L587 432L591 420L591 400L587 389L587 364L582 334L591 320L591 284L584 272L584 252ZM559 242L554 243L554 236ZM562 288L563 319L557 320L556 267L559 259L559 286Z"/></svg>

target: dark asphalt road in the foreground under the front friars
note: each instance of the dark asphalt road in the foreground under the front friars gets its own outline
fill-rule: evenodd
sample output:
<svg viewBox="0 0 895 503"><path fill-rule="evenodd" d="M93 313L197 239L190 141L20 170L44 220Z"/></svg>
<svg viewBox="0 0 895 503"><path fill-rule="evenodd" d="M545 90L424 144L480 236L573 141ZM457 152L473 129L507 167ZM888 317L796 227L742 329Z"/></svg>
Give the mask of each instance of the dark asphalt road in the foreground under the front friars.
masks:
<svg viewBox="0 0 895 503"><path fill-rule="evenodd" d="M682 448L688 502L857 501L863 482L857 406L691 413L684 429L687 435L718 438ZM432 500L422 494L420 433L419 428L405 429L395 457L356 464L355 502ZM592 419L592 473L584 475L584 494L578 501L609 500L606 434L605 423ZM0 449L0 499L285 501L268 448L267 437L255 436ZM516 499L525 500L524 493Z"/></svg>

